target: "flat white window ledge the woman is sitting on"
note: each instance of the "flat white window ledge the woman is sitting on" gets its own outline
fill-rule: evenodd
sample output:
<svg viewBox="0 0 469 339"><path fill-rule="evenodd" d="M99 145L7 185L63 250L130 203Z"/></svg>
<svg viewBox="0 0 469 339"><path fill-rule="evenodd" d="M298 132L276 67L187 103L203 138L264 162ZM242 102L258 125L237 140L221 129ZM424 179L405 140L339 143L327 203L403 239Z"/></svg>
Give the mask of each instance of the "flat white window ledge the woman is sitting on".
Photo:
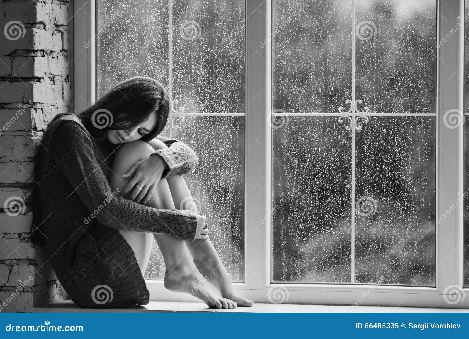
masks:
<svg viewBox="0 0 469 339"><path fill-rule="evenodd" d="M145 306L126 309L85 309L77 307L72 301L53 301L45 308L33 308L33 312L350 312L349 306L337 305L295 305L295 304L270 304L255 303L252 307L238 307L236 309L209 309L203 302L186 302L182 306L174 301L150 301ZM443 309L443 308L421 308L421 307L379 307L359 306L351 312L469 312L469 309Z"/></svg>

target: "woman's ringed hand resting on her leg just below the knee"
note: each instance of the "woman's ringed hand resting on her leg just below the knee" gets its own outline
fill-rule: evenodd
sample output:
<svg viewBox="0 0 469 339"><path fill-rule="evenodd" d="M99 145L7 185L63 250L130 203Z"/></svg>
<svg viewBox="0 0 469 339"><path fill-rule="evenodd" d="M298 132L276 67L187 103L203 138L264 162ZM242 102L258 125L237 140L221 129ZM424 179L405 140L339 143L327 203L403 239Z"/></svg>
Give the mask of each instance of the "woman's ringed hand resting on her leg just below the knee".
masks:
<svg viewBox="0 0 469 339"><path fill-rule="evenodd" d="M157 154L140 160L122 175L124 178L130 178L133 175L132 180L122 190L122 196L127 196L133 189L128 199L145 205L153 198L158 181L165 169L167 169L165 160Z"/></svg>

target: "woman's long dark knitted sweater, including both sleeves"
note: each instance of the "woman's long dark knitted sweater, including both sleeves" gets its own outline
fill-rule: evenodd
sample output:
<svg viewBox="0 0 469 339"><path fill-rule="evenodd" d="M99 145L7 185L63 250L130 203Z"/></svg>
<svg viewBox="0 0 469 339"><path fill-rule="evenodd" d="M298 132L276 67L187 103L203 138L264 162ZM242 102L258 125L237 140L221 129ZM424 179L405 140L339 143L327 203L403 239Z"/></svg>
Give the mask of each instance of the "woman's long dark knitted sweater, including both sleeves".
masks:
<svg viewBox="0 0 469 339"><path fill-rule="evenodd" d="M186 144L160 139L169 146L155 152L168 164L165 176L187 173L197 164ZM147 304L150 294L135 254L119 231L193 240L196 216L147 207L113 193L108 183L113 154L98 147L74 114L54 121L40 147L38 228L65 291L83 307ZM103 289L112 296L104 303Z"/></svg>

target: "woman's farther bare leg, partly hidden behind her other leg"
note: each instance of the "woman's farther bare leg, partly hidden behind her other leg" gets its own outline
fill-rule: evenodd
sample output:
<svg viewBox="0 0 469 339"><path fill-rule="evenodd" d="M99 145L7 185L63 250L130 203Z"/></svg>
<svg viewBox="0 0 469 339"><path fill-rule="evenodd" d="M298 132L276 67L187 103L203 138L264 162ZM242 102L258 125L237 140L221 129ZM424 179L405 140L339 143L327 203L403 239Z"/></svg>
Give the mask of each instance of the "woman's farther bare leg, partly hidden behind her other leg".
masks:
<svg viewBox="0 0 469 339"><path fill-rule="evenodd" d="M192 200L192 196L183 176L169 176L167 177L167 181L171 190L171 196L173 197L174 206L176 206L175 208L180 210L192 210L197 213L196 204ZM234 293L233 284L231 283L228 272L225 266L223 266L210 239L187 241L186 244L192 253L197 269L204 276L209 278L209 281L218 288L224 298L235 301L238 306L252 306L252 301Z"/></svg>

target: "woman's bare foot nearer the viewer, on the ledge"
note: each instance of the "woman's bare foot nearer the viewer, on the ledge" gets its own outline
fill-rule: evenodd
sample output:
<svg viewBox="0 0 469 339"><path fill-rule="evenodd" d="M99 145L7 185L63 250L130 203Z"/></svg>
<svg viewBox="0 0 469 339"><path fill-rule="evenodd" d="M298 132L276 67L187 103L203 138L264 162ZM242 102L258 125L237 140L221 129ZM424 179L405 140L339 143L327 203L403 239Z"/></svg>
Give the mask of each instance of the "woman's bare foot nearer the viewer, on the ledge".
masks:
<svg viewBox="0 0 469 339"><path fill-rule="evenodd" d="M194 268L195 269L195 268ZM165 287L173 292L185 292L204 301L208 307L216 309L235 309L237 302L223 298L197 269L184 265L177 265L166 271ZM197 272L196 272L197 271Z"/></svg>

